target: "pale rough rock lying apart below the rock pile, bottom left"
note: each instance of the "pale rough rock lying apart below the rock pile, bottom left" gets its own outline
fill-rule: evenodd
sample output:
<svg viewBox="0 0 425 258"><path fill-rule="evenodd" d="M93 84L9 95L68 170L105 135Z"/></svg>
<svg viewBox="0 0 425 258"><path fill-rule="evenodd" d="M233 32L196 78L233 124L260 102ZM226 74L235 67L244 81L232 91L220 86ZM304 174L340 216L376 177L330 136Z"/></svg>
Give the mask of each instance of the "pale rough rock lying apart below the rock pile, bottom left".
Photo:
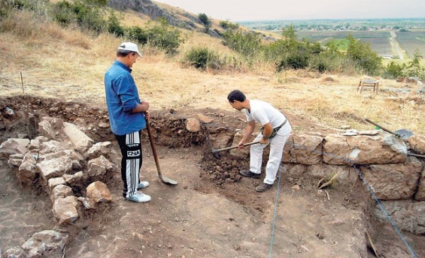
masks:
<svg viewBox="0 0 425 258"><path fill-rule="evenodd" d="M57 232L55 230L44 230L36 232L22 245L22 249L28 252L28 258L30 257L50 257L57 249L64 248L67 244L68 235L67 233ZM53 257L53 256L51 256Z"/></svg>

